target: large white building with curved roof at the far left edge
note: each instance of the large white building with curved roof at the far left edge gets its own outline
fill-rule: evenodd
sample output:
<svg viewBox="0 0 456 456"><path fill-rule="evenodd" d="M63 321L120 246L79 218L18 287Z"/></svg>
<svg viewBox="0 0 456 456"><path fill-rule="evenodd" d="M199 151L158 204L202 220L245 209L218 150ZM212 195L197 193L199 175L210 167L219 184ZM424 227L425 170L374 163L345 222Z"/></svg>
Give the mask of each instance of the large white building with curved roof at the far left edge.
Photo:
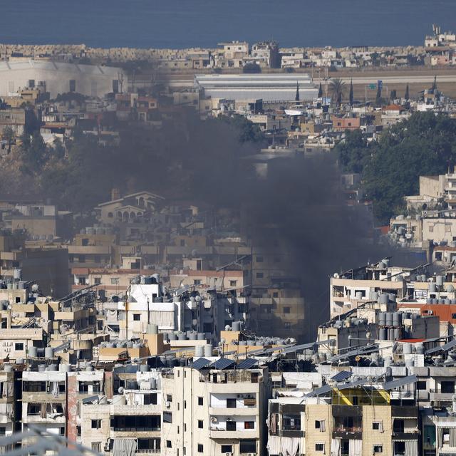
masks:
<svg viewBox="0 0 456 456"><path fill-rule="evenodd" d="M103 97L122 92L127 87L127 76L121 68L111 66L35 60L0 62L0 97L39 85L46 86L51 98L67 92Z"/></svg>

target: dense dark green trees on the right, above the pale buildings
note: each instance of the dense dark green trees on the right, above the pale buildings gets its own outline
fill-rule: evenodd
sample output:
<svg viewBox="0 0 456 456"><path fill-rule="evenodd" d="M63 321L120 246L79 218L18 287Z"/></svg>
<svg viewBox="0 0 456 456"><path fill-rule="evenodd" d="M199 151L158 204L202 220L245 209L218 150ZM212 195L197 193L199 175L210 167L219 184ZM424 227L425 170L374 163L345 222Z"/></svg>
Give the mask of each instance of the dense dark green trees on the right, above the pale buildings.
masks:
<svg viewBox="0 0 456 456"><path fill-rule="evenodd" d="M405 195L418 195L420 175L442 174L456 164L456 119L415 113L378 142L368 143L360 131L347 132L336 150L345 172L361 173L376 217L388 223L403 209Z"/></svg>

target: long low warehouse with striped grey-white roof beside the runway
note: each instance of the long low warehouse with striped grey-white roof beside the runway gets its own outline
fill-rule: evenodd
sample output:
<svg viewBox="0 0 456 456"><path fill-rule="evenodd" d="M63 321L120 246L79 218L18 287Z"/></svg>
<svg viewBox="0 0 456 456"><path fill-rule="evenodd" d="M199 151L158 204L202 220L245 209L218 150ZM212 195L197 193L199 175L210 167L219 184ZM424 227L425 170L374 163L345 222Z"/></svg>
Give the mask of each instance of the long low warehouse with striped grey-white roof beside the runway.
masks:
<svg viewBox="0 0 456 456"><path fill-rule="evenodd" d="M227 100L293 101L313 100L318 88L307 73L294 74L204 74L195 75L195 87L204 95Z"/></svg>

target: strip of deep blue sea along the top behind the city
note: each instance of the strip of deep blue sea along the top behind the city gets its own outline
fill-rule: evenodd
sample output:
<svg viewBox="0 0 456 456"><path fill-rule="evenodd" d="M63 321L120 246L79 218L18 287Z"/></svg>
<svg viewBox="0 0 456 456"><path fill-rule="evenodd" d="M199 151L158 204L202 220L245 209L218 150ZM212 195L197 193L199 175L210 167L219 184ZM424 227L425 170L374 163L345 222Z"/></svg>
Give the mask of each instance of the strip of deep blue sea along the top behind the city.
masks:
<svg viewBox="0 0 456 456"><path fill-rule="evenodd" d="M456 29L456 0L0 0L0 43L215 47L419 45Z"/></svg>

